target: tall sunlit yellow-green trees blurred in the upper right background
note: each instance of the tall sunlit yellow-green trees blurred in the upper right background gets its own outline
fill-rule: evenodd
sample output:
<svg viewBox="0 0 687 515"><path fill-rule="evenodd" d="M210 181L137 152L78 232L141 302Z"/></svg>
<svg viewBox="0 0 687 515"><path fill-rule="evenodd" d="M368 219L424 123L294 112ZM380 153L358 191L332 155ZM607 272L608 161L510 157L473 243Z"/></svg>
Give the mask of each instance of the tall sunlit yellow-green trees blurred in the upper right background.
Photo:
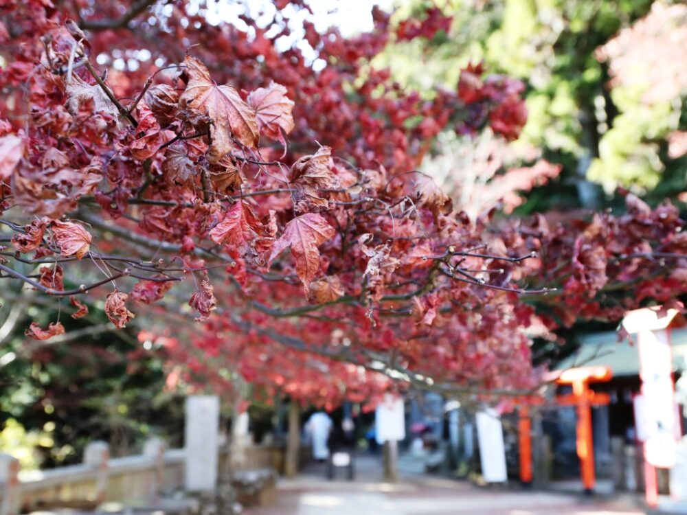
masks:
<svg viewBox="0 0 687 515"><path fill-rule="evenodd" d="M563 173L543 191L534 190L523 212L602 207L612 203L609 195L618 186L649 201L675 200L684 191L684 158L668 151L668 139L685 128L683 83L668 78L677 84L672 91L648 95L655 88L653 67L671 63L641 52L648 44L671 48L670 38L684 26L684 6L651 0L403 0L394 16L397 23L423 19L434 6L451 16L448 32L398 41L374 65L425 90L455 87L460 69L479 61L491 73L526 82L530 115L518 144L542 148ZM618 41L610 47L613 38ZM418 62L423 73L416 71ZM632 82L617 76L617 65L649 76Z"/></svg>

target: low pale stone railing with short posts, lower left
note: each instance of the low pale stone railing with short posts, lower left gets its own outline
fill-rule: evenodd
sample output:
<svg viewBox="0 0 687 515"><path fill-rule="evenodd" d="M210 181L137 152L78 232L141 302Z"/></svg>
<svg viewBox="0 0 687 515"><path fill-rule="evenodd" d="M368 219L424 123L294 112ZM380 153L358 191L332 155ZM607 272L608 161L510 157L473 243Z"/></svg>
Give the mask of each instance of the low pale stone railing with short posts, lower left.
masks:
<svg viewBox="0 0 687 515"><path fill-rule="evenodd" d="M220 475L242 470L280 468L282 453L271 446L245 449L240 468L229 469L229 451L219 452ZM137 456L110 458L104 442L87 446L80 465L52 470L21 471L19 461L0 455L0 515L16 515L52 507L90 510L106 503L144 506L157 503L163 494L183 488L185 450L164 448L159 439L146 442Z"/></svg>

